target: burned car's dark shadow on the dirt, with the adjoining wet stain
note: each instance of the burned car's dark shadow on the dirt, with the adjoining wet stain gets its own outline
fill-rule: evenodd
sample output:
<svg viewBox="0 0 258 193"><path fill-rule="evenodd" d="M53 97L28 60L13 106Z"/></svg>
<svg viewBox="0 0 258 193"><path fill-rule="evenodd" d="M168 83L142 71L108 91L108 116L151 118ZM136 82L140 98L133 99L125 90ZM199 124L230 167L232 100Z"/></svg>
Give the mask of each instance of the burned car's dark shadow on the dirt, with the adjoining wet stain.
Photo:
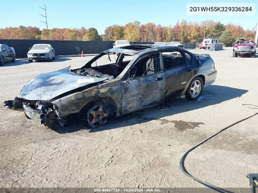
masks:
<svg viewBox="0 0 258 193"><path fill-rule="evenodd" d="M89 132L96 132L102 130L110 130L119 127L126 127L130 125L134 125L137 123L145 123L151 120L159 120L161 124L165 124L168 122L175 123L176 129L184 130L185 128L194 128L198 127L200 122L184 122L184 121L169 121L165 120L163 117L171 116L177 113L183 113L195 109L200 109L209 105L216 105L221 102L231 100L233 98L239 98L243 94L248 92L247 90L242 90L238 88L231 88L226 86L218 86L218 85L210 85L209 87L205 88L202 93L202 96L196 101L188 101L186 99L183 100L176 100L165 102L161 106L150 107L144 110L139 110L133 113L129 113L123 115L121 117L112 117L108 118L107 124L101 127L96 128L87 128L83 121L74 121L70 123L67 127L61 127L56 124L55 127L51 129L56 131L57 133L64 134L64 133L72 133L78 130L87 129ZM189 124L190 123L190 124Z"/></svg>

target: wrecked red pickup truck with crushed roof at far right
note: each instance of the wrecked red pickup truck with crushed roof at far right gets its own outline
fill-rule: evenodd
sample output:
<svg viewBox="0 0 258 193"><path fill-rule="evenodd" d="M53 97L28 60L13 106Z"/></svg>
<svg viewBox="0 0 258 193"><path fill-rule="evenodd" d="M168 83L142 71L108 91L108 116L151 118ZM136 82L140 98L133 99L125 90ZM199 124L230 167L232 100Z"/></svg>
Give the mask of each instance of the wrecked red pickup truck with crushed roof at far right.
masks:
<svg viewBox="0 0 258 193"><path fill-rule="evenodd" d="M253 40L247 38L239 38L236 40L233 48L233 57L238 57L238 55L249 55L254 58L255 54L256 43Z"/></svg>

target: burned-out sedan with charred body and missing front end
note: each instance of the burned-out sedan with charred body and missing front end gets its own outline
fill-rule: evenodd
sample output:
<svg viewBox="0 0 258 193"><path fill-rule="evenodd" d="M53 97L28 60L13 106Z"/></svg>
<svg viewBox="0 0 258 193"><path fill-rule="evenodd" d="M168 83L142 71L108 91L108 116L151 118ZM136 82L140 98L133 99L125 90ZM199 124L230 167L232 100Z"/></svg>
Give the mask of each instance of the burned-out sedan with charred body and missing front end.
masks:
<svg viewBox="0 0 258 193"><path fill-rule="evenodd" d="M119 53L115 58L113 53ZM104 65L99 65L104 61ZM47 124L81 114L89 127L177 98L196 100L216 79L209 55L163 45L111 48L78 69L43 73L29 81L8 108L23 108L27 117Z"/></svg>

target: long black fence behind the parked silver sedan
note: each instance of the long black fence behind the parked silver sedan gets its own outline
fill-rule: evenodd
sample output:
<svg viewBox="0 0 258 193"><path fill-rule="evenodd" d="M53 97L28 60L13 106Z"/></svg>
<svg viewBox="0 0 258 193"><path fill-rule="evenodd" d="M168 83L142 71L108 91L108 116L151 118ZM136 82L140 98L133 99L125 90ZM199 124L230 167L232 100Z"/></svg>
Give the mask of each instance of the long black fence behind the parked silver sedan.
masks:
<svg viewBox="0 0 258 193"><path fill-rule="evenodd" d="M34 44L51 44L56 55L98 54L113 48L114 41L64 41L64 40L2 40L0 44L13 47L16 58L27 58L27 52ZM154 44L153 42L131 42L133 44Z"/></svg>

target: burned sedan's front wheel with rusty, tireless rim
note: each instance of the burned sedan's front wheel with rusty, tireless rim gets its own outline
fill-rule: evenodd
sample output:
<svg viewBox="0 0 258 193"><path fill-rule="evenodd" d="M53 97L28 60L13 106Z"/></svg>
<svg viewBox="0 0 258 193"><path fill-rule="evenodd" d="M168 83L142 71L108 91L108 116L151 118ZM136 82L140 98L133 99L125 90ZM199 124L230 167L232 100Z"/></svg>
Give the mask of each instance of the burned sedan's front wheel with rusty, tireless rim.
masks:
<svg viewBox="0 0 258 193"><path fill-rule="evenodd" d="M89 110L83 111L83 119L88 127L98 127L107 123L108 112L103 105L94 105Z"/></svg>

